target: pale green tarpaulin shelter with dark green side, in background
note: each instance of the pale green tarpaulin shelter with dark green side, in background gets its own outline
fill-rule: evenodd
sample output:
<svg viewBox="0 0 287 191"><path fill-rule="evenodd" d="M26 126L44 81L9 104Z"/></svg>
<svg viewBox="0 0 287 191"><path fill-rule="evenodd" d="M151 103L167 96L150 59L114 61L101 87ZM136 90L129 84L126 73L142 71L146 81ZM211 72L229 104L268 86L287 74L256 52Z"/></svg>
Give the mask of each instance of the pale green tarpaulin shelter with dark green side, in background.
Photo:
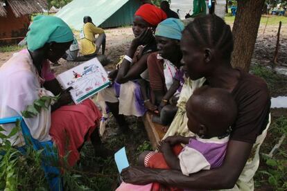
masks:
<svg viewBox="0 0 287 191"><path fill-rule="evenodd" d="M85 16L92 17L96 26L112 28L131 25L139 6L139 0L73 0L55 16L76 30L81 30Z"/></svg>

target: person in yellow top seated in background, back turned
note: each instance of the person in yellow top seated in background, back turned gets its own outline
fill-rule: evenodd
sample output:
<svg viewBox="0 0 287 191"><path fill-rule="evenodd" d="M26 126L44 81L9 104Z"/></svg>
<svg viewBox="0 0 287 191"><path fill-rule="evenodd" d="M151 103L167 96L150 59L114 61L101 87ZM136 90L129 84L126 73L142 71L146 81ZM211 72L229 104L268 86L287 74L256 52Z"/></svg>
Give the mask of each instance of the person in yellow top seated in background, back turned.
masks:
<svg viewBox="0 0 287 191"><path fill-rule="evenodd" d="M98 35L98 38L95 38ZM93 57L96 56L102 46L102 55L105 55L105 31L93 24L92 18L84 17L84 26L80 33L80 53L82 55Z"/></svg>

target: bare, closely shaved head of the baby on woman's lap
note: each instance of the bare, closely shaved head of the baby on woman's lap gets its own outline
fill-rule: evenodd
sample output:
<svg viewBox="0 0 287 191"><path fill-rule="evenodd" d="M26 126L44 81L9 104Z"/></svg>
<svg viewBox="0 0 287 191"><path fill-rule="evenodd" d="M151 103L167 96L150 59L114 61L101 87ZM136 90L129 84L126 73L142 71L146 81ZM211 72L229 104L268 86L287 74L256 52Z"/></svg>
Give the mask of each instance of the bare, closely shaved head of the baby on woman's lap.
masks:
<svg viewBox="0 0 287 191"><path fill-rule="evenodd" d="M186 103L189 130L198 136L223 136L237 116L236 102L225 89L200 87Z"/></svg>

